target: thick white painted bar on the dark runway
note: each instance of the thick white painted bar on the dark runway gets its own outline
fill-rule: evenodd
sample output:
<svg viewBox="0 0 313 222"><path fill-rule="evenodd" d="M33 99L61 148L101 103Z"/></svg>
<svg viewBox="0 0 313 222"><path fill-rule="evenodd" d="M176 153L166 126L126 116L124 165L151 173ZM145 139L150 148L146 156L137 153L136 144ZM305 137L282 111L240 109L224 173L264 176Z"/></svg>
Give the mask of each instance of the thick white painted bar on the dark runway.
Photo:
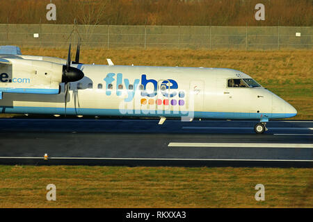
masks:
<svg viewBox="0 0 313 222"><path fill-rule="evenodd" d="M170 142L175 147L247 147L247 148L313 148L313 144L258 144L258 143L182 143Z"/></svg>

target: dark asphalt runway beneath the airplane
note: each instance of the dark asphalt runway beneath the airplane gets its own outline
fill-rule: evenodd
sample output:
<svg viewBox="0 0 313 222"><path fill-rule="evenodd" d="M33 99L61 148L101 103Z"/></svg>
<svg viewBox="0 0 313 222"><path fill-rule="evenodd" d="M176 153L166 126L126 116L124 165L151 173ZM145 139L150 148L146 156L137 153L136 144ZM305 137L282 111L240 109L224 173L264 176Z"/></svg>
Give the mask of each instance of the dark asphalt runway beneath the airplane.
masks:
<svg viewBox="0 0 313 222"><path fill-rule="evenodd" d="M313 121L158 122L0 119L0 164L313 167Z"/></svg>

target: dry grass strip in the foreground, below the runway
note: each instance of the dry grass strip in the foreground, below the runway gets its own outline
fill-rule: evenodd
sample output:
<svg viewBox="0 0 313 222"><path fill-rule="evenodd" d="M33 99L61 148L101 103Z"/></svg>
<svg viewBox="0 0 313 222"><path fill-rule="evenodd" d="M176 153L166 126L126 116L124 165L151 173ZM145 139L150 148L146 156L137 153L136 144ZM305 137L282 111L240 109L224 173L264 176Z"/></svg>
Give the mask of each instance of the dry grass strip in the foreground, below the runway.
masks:
<svg viewBox="0 0 313 222"><path fill-rule="evenodd" d="M312 169L0 166L0 207L313 207ZM56 201L46 186L56 185ZM265 201L255 200L264 184Z"/></svg>

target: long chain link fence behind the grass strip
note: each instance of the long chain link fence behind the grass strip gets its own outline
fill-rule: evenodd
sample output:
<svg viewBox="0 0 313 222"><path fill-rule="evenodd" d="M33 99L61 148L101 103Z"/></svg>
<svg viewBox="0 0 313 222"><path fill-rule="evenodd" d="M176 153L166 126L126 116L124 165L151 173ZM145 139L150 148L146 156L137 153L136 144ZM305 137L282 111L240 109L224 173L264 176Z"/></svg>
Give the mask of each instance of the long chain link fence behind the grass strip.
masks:
<svg viewBox="0 0 313 222"><path fill-rule="evenodd" d="M312 49L313 27L0 24L0 45L103 49Z"/></svg>

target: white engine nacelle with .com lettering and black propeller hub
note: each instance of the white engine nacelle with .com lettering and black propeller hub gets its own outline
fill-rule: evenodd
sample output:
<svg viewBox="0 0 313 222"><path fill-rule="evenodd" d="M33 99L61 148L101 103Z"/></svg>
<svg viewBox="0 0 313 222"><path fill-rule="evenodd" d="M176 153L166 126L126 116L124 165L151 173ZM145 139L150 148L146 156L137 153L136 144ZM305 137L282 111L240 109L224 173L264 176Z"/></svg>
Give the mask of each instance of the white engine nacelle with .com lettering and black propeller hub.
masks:
<svg viewBox="0 0 313 222"><path fill-rule="evenodd" d="M19 58L0 60L0 94L58 94L60 83L74 82L81 78L81 70L55 62Z"/></svg>

